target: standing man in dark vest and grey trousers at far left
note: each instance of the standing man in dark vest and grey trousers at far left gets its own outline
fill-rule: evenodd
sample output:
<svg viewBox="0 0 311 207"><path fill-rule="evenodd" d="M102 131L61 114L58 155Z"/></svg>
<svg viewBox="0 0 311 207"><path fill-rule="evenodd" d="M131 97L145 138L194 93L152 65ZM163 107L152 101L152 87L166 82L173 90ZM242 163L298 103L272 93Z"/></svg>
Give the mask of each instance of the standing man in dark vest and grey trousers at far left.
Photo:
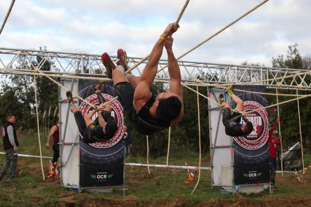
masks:
<svg viewBox="0 0 311 207"><path fill-rule="evenodd" d="M17 146L19 146L14 128L15 116L12 114L7 115L7 122L2 128L3 148L6 151L5 162L0 172L0 180L10 168L10 177L15 177L17 168Z"/></svg>

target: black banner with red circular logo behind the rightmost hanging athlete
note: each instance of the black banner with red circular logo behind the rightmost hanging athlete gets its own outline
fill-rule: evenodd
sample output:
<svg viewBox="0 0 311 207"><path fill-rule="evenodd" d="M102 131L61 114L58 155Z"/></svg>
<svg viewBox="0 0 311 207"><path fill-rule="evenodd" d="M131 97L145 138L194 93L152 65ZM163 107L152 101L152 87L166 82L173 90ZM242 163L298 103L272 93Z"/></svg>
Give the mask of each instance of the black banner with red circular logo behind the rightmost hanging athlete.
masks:
<svg viewBox="0 0 311 207"><path fill-rule="evenodd" d="M265 86L234 86L235 89L266 92ZM267 96L249 92L234 91L244 101L244 111L251 111L267 106ZM231 99L232 108L236 107ZM233 137L234 143L234 184L260 184L270 182L268 114L259 110L247 115L254 130L245 137ZM241 123L244 124L243 119Z"/></svg>

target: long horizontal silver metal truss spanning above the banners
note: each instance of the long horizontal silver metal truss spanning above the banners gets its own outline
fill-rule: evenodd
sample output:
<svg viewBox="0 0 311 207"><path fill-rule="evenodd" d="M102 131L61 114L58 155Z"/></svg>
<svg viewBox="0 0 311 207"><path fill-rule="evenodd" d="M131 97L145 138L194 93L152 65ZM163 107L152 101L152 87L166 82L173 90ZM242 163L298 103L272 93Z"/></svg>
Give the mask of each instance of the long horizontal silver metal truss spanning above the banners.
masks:
<svg viewBox="0 0 311 207"><path fill-rule="evenodd" d="M40 56L42 60L38 65L33 65L31 60ZM116 56L111 56L112 61L116 61ZM128 56L128 64L131 67L142 58ZM47 74L66 74L74 75L76 70L81 74L104 74L105 68L101 63L100 54L75 53L75 52L55 52L45 50L26 50L0 47L0 70L10 69L16 71L34 72L36 68L40 69L44 63L48 61L51 64L51 71L41 71ZM132 74L139 76L145 68L148 60L132 70ZM165 66L167 60L159 61L159 68ZM295 75L310 70L290 69L290 68L272 68L263 66L249 65L230 65L216 64L207 62L178 61L183 83L195 83L200 78L204 83L244 83L251 81L262 81L259 84L265 85L267 88L276 88L277 83L283 84L283 89L297 89L297 85L301 84L299 90L310 90L311 83L305 80L311 77L311 74L301 74L290 78L284 78L288 75ZM1 71L3 74L15 74L14 72ZM16 73L17 74L17 73ZM280 78L278 80L263 81L266 79ZM167 68L160 71L157 79L169 80ZM291 87L293 86L293 87Z"/></svg>

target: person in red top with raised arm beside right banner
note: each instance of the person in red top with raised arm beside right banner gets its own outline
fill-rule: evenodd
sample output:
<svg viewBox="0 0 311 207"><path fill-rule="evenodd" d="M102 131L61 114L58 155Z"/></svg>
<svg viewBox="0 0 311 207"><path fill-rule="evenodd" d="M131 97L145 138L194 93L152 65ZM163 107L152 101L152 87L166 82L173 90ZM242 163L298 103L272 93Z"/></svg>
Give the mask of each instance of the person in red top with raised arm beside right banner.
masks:
<svg viewBox="0 0 311 207"><path fill-rule="evenodd" d="M280 141L276 138L274 138L276 131L275 127L277 123L280 121L280 117L276 119L276 122L273 124L269 131L269 154L270 154L270 172L271 172L271 177L270 180L273 183L273 190L276 189L275 187L275 175L276 175L276 145L281 145ZM279 135L279 138L281 139L282 136L281 134Z"/></svg>

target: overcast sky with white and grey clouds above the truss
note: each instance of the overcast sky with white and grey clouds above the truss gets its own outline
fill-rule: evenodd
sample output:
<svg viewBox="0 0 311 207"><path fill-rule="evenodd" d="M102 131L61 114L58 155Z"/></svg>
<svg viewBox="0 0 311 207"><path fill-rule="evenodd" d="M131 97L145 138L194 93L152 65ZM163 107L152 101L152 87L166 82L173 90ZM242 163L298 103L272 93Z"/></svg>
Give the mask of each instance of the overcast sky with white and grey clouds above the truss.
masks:
<svg viewBox="0 0 311 207"><path fill-rule="evenodd" d="M183 0L17 0L0 35L0 47L145 57ZM190 0L173 35L180 56L250 10L260 0ZM0 1L0 21L11 0ZM260 63L286 54L297 43L311 55L311 0L270 0L182 60L209 63ZM166 58L165 53L162 58Z"/></svg>

